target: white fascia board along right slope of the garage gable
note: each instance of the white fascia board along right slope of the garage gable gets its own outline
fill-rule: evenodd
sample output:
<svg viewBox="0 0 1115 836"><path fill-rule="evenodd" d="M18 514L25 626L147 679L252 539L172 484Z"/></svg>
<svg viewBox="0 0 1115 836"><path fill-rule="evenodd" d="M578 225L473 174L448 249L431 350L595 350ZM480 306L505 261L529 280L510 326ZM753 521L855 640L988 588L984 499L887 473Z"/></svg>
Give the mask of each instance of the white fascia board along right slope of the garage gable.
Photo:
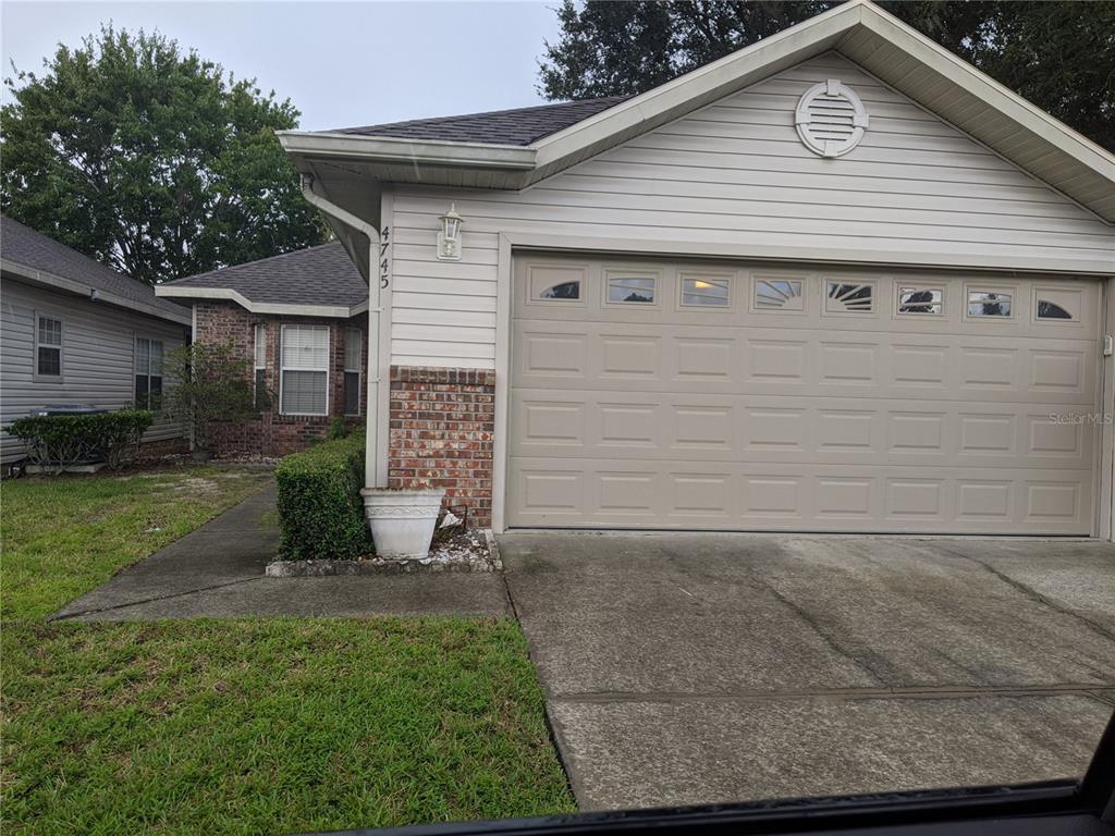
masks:
<svg viewBox="0 0 1115 836"><path fill-rule="evenodd" d="M1115 155L1107 149L875 4L864 2L861 13L864 28L1115 184Z"/></svg>

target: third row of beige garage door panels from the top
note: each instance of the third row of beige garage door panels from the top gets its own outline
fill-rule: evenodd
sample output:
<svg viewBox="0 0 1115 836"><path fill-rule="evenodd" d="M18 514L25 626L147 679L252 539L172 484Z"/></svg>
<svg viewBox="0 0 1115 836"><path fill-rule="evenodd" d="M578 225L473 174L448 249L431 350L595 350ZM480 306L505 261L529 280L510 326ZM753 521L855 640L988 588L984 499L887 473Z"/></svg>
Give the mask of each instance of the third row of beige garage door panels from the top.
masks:
<svg viewBox="0 0 1115 836"><path fill-rule="evenodd" d="M818 404L820 401L820 404ZM1088 469L1064 407L856 398L516 390L512 456Z"/></svg>

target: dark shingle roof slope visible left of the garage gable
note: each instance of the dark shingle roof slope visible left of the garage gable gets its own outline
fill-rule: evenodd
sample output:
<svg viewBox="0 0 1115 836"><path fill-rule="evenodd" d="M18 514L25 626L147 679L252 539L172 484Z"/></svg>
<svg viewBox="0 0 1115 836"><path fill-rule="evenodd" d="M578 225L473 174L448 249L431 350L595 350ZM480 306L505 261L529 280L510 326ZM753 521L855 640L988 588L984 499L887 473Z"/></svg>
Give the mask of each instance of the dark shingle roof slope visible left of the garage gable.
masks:
<svg viewBox="0 0 1115 836"><path fill-rule="evenodd" d="M550 134L595 116L624 101L628 96L562 101L556 105L520 107L514 110L488 110L483 114L411 119L359 128L338 128L329 133L385 136L400 139L445 139L456 143L530 145Z"/></svg>

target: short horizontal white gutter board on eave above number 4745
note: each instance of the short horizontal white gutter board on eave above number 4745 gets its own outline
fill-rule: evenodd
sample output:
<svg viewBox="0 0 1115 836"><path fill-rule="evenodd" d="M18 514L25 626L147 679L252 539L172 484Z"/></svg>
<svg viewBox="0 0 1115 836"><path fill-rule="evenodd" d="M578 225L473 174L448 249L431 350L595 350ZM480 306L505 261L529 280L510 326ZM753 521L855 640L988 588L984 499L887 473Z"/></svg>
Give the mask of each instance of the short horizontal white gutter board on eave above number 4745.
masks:
<svg viewBox="0 0 1115 836"><path fill-rule="evenodd" d="M288 154L377 163L417 163L454 168L498 168L530 172L535 152L522 145L452 143L444 139L398 139L326 132L279 130L279 142Z"/></svg>

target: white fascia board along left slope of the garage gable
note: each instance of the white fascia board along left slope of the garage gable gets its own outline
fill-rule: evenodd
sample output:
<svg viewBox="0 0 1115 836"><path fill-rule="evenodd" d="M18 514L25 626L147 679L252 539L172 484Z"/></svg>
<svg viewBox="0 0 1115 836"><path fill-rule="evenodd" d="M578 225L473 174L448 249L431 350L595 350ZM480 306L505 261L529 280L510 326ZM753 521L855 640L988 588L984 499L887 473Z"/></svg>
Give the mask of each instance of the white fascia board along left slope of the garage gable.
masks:
<svg viewBox="0 0 1115 836"><path fill-rule="evenodd" d="M863 0L851 0L834 7L823 14L545 136L530 147L537 150L537 164L541 167L563 157L574 156L579 150L641 123L682 116L691 109L690 103L695 99L717 95L721 90L724 95L728 95L752 81L760 80L759 76L768 75L768 68L779 61L792 61L797 56L802 56L804 60L817 50L818 43L838 38L853 29L860 22L863 4ZM754 79L748 78L753 75Z"/></svg>

